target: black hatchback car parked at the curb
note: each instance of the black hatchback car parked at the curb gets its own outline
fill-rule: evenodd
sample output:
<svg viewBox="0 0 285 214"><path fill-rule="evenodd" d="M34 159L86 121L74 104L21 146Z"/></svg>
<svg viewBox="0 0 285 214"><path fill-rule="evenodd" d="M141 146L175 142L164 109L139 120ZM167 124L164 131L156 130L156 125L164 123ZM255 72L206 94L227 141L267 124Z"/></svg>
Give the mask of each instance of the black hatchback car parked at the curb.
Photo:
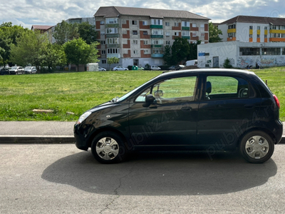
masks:
<svg viewBox="0 0 285 214"><path fill-rule="evenodd" d="M162 73L121 98L83 113L76 146L100 163L133 150L239 149L251 163L271 158L281 141L279 100L250 71L195 69Z"/></svg>

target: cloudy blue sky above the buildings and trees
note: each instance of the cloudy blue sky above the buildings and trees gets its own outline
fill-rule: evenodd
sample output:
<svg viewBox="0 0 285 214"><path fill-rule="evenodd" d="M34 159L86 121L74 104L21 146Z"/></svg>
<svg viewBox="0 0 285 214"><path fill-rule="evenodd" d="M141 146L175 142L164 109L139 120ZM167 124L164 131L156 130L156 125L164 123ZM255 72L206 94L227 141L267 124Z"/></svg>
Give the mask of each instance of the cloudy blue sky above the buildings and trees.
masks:
<svg viewBox="0 0 285 214"><path fill-rule="evenodd" d="M91 17L100 6L185 10L222 22L238 15L284 17L284 0L0 0L0 23L11 21L28 29L55 25L63 19Z"/></svg>

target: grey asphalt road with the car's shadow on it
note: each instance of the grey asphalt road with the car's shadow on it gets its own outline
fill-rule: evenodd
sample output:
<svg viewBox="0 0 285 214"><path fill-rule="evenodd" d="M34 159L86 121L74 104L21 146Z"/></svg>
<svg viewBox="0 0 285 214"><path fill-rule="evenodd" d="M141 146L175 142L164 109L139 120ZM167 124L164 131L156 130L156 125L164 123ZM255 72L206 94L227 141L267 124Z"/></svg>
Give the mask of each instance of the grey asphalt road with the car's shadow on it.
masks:
<svg viewBox="0 0 285 214"><path fill-rule="evenodd" d="M284 213L285 145L237 153L137 153L113 165L72 144L0 145L0 213Z"/></svg>

